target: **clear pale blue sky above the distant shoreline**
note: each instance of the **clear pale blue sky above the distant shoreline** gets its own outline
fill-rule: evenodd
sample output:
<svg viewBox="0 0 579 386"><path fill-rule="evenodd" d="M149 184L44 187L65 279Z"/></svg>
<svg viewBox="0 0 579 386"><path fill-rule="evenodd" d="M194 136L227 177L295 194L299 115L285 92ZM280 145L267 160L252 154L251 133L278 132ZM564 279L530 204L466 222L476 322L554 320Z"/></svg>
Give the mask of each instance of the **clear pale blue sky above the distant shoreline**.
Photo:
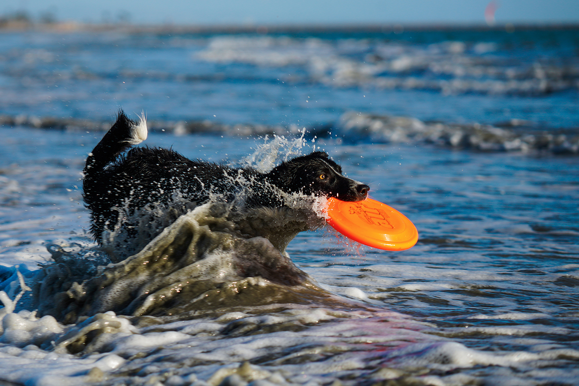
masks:
<svg viewBox="0 0 579 386"><path fill-rule="evenodd" d="M483 23L489 0L2 0L0 13L134 23ZM499 0L497 23L577 22L579 0Z"/></svg>

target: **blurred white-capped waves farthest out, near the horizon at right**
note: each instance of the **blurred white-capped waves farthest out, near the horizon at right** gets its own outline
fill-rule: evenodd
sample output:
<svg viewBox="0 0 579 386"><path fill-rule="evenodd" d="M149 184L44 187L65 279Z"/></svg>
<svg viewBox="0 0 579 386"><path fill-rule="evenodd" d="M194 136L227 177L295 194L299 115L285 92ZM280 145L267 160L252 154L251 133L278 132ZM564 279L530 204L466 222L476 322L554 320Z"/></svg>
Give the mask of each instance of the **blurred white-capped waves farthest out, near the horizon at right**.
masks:
<svg viewBox="0 0 579 386"><path fill-rule="evenodd" d="M524 51L506 59L501 49L496 42L408 45L370 39L222 36L211 38L197 55L217 63L298 67L297 74L284 80L335 87L523 95L579 88L576 57L544 59Z"/></svg>

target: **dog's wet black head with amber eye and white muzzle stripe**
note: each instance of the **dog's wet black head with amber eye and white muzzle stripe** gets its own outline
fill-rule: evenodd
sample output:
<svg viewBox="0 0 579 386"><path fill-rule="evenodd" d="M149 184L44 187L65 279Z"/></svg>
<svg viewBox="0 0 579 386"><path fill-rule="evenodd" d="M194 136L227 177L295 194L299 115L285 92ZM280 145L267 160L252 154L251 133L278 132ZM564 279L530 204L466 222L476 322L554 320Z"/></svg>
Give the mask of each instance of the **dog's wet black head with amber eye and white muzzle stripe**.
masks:
<svg viewBox="0 0 579 386"><path fill-rule="evenodd" d="M267 179L288 193L325 195L342 201L362 201L370 187L342 176L342 167L322 151L290 159L276 166Z"/></svg>

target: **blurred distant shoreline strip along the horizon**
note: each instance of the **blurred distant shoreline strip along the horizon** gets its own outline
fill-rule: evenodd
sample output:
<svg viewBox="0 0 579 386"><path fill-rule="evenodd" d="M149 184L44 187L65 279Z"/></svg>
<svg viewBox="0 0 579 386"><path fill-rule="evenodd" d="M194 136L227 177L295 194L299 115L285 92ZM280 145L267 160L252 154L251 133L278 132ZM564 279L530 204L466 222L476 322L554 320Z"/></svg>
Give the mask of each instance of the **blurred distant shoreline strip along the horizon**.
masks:
<svg viewBox="0 0 579 386"><path fill-rule="evenodd" d="M320 32L366 32L400 34L411 31L521 31L521 30L579 30L579 23L503 23L488 26L485 23L383 23L383 24L93 24L77 21L31 23L20 20L0 20L0 32L18 31L122 31L127 33L178 34L292 34Z"/></svg>

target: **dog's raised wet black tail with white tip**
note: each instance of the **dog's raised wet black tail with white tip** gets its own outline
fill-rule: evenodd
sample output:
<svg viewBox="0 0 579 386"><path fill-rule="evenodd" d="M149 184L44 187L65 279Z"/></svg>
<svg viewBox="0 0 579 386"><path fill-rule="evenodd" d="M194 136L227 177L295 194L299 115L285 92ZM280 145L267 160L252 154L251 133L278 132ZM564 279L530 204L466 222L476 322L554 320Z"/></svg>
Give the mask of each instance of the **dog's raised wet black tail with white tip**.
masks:
<svg viewBox="0 0 579 386"><path fill-rule="evenodd" d="M86 158L85 170L83 170L85 179L104 169L126 148L146 140L146 135L145 114L141 113L139 122L135 122L126 116L123 110L119 110L115 124Z"/></svg>

